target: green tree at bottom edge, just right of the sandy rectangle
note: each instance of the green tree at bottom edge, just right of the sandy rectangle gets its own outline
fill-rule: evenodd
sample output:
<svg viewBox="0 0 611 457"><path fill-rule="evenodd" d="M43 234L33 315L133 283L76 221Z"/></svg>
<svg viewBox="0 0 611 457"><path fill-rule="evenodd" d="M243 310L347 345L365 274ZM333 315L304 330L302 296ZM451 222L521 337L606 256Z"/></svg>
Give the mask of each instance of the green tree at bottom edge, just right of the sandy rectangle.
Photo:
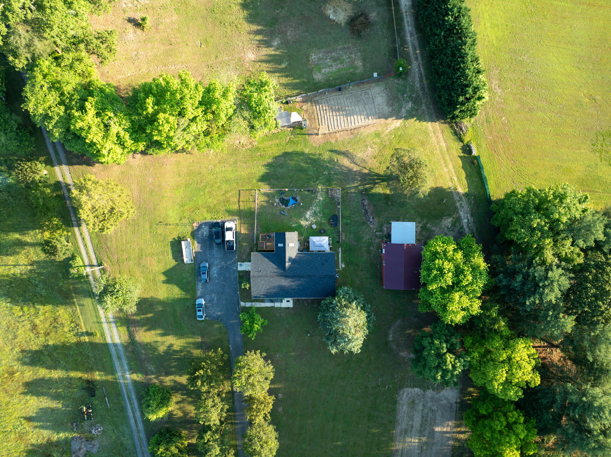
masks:
<svg viewBox="0 0 611 457"><path fill-rule="evenodd" d="M475 457L520 457L536 451L535 421L511 401L481 392L464 413L464 423L471 430L467 447Z"/></svg>

